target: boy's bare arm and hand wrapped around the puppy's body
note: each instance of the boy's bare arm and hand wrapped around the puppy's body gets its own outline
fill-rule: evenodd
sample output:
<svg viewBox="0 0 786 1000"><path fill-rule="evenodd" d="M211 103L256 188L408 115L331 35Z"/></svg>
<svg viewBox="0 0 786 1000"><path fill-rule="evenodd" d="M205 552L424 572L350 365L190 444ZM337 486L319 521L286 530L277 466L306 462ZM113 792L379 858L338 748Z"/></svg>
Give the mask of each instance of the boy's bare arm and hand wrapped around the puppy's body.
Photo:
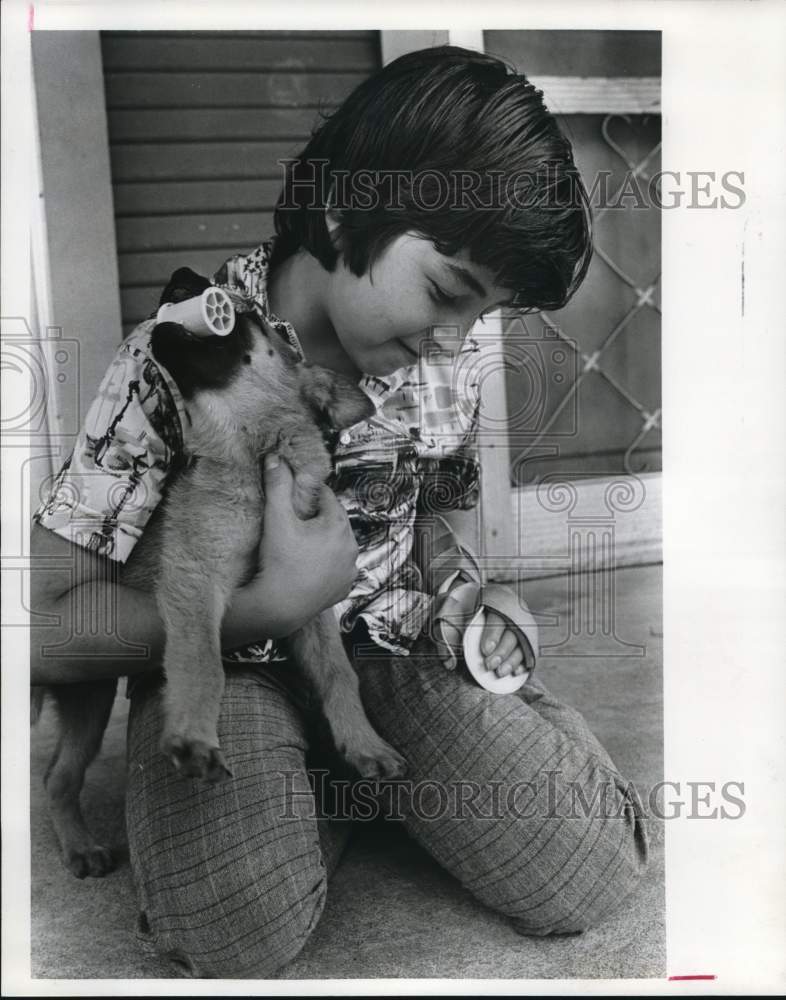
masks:
<svg viewBox="0 0 786 1000"><path fill-rule="evenodd" d="M262 569L230 601L221 628L226 649L290 635L342 600L356 575L352 529L327 487L318 514L306 522L295 514L285 463L266 465L265 492ZM33 525L31 555L31 683L122 677L160 666L164 626L155 597L125 586L120 563L40 524Z"/></svg>

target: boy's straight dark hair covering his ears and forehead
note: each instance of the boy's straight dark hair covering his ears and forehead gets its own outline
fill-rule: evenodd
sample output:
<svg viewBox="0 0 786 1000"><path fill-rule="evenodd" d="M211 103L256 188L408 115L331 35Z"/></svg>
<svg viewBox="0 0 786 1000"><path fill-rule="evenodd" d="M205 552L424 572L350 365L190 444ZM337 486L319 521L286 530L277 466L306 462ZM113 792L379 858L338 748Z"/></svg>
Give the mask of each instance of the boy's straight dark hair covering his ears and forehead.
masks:
<svg viewBox="0 0 786 1000"><path fill-rule="evenodd" d="M361 276L397 236L466 250L517 308L558 309L592 254L570 143L526 77L455 46L410 52L357 87L287 162L272 266L305 248L333 271L325 206Z"/></svg>

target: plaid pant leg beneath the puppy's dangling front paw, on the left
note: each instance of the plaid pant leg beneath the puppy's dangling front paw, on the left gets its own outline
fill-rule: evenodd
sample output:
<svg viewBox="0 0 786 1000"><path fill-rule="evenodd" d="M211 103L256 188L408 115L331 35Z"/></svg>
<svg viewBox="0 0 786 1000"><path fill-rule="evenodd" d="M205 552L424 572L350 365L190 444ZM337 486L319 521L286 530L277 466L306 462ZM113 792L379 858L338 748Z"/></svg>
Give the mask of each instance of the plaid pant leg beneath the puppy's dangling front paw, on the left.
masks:
<svg viewBox="0 0 786 1000"><path fill-rule="evenodd" d="M348 833L315 818L302 716L275 670L228 670L218 732L233 778L214 786L177 774L161 729L146 685L132 696L126 800L146 930L192 975L275 975L319 920Z"/></svg>

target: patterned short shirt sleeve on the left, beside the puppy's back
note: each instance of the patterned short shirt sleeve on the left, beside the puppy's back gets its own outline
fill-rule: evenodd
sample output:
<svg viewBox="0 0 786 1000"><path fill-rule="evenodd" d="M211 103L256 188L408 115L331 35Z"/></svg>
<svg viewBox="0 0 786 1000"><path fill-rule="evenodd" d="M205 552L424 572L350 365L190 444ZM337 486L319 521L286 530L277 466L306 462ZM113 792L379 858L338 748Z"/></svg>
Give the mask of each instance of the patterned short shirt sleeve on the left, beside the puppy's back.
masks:
<svg viewBox="0 0 786 1000"><path fill-rule="evenodd" d="M125 562L162 498L183 451L183 402L150 354L155 321L118 349L74 450L33 521L117 562Z"/></svg>

